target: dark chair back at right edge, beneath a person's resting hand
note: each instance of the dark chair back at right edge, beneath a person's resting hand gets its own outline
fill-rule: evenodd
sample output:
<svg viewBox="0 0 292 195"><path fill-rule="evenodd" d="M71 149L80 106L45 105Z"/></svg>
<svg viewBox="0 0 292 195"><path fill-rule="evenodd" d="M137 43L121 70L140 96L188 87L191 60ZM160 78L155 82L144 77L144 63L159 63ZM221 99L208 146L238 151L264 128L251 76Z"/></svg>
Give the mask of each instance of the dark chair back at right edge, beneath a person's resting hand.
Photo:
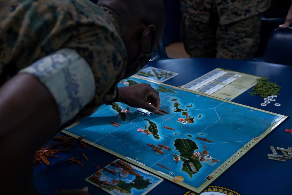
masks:
<svg viewBox="0 0 292 195"><path fill-rule="evenodd" d="M292 65L292 27L277 28L269 38L263 62Z"/></svg>

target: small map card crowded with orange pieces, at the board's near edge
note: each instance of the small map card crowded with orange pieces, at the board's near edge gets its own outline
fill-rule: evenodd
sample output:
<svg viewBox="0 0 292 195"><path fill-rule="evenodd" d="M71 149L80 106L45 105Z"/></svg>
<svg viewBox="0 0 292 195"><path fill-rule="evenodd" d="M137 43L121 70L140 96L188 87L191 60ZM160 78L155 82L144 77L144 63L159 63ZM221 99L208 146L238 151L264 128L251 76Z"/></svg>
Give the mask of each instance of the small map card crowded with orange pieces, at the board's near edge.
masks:
<svg viewBox="0 0 292 195"><path fill-rule="evenodd" d="M144 195L163 181L162 178L120 159L101 169L100 173L97 170L85 180L113 195Z"/></svg>

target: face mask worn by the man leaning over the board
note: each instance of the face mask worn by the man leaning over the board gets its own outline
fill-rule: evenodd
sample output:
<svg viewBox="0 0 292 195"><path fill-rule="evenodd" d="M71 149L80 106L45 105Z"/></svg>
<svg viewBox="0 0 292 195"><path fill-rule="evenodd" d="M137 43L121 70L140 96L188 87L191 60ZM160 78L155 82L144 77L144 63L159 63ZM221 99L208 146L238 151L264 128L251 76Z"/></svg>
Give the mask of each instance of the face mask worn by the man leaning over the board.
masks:
<svg viewBox="0 0 292 195"><path fill-rule="evenodd" d="M151 57L152 57L152 53L138 55L137 59L134 62L127 64L123 79L126 79L136 74L141 68L143 68L149 62Z"/></svg>

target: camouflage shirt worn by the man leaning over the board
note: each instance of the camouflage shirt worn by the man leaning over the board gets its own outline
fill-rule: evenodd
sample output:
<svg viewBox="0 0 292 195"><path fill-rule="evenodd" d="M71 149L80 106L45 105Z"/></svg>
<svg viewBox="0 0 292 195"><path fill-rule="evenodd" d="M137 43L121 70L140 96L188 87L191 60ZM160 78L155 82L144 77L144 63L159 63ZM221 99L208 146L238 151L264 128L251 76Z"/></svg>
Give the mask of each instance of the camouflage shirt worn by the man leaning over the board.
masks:
<svg viewBox="0 0 292 195"><path fill-rule="evenodd" d="M87 62L93 73L87 82L93 81L95 89L87 106L76 98L84 88L77 80L90 71L80 70L85 75L74 75L66 65L74 61L84 67ZM41 82L51 79L48 74L63 71L59 81L64 83L65 92L56 87L58 83L46 84L48 88L53 85L49 88L53 96L65 93L62 101L67 101L68 109L65 113L60 111L64 106L59 107L60 115L76 115L82 108L79 117L84 117L99 105L114 101L118 95L116 84L123 78L126 63L127 51L111 10L89 0L0 0L0 84L22 69Z"/></svg>

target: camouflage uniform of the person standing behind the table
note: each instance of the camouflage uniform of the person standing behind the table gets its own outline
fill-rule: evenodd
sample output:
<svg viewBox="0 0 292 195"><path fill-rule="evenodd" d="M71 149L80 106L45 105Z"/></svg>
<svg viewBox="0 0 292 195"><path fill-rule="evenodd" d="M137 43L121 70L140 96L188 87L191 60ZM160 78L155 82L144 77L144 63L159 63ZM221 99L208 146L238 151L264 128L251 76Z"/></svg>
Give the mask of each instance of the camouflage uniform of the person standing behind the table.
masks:
<svg viewBox="0 0 292 195"><path fill-rule="evenodd" d="M270 0L181 0L182 37L191 57L243 59L259 45Z"/></svg>

